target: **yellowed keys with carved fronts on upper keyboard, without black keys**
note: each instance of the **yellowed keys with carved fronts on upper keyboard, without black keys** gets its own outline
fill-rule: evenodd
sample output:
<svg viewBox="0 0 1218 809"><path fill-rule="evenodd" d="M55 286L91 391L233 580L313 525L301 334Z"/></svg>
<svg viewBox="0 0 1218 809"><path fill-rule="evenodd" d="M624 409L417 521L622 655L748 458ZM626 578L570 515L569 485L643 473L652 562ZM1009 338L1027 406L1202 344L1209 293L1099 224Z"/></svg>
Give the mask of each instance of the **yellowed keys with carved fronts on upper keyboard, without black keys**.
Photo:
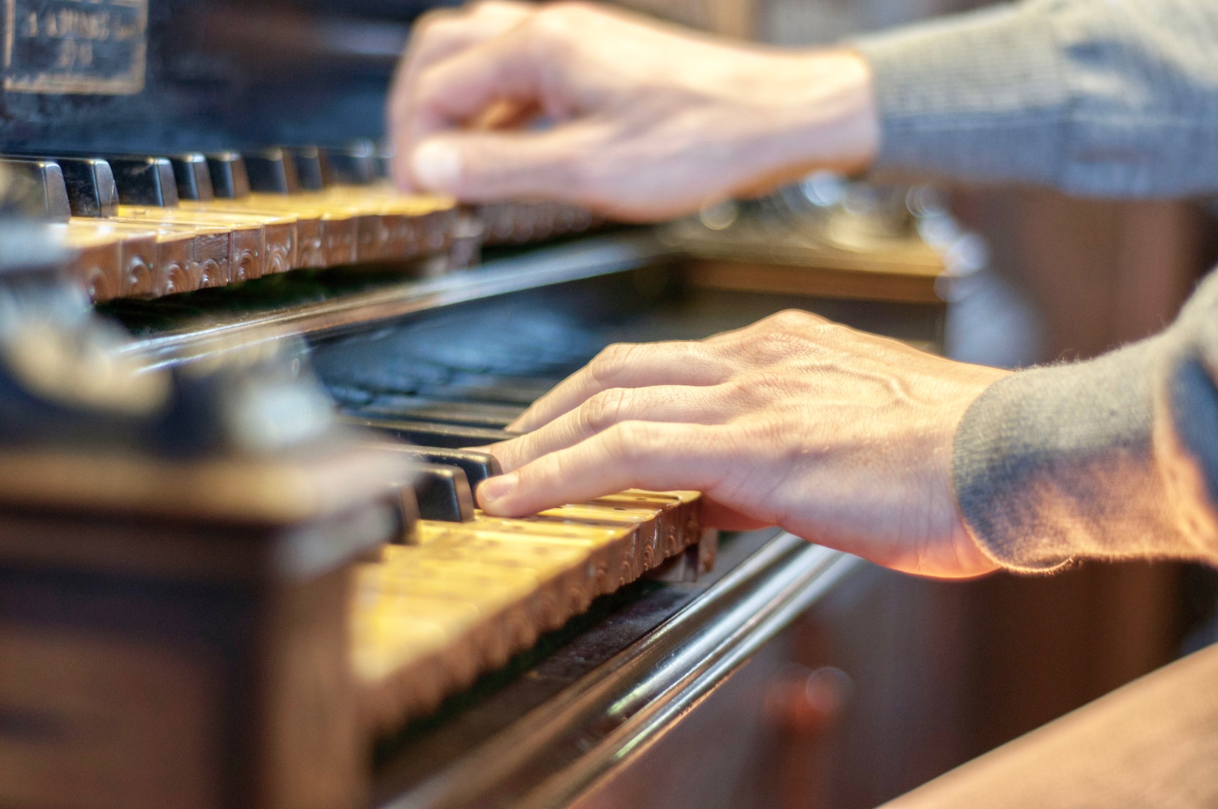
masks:
<svg viewBox="0 0 1218 809"><path fill-rule="evenodd" d="M111 217L73 216L63 230L82 250L73 274L94 301L106 301L224 286L290 269L420 258L449 246L456 221L451 199L368 185L256 193L175 207L122 205ZM157 250L147 247L153 239Z"/></svg>

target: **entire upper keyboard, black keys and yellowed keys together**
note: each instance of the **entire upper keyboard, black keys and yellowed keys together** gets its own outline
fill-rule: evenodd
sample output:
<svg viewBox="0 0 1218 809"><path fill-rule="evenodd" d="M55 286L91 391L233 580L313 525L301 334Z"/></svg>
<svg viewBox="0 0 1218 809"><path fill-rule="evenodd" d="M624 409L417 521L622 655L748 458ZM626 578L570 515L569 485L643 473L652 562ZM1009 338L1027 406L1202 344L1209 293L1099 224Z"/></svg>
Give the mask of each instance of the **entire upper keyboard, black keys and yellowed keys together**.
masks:
<svg viewBox="0 0 1218 809"><path fill-rule="evenodd" d="M94 301L297 268L418 258L453 238L452 199L400 194L370 151L4 156L0 174L77 252Z"/></svg>

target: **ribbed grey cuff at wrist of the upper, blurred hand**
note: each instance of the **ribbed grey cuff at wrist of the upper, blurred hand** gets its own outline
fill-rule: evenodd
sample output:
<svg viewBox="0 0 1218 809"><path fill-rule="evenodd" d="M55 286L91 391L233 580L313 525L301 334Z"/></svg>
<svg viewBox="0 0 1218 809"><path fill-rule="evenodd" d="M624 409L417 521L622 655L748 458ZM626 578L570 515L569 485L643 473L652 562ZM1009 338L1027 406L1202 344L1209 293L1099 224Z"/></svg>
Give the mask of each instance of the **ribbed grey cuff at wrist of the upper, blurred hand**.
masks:
<svg viewBox="0 0 1218 809"><path fill-rule="evenodd" d="M871 65L877 169L1052 182L1069 97L1047 15L1001 6L849 41Z"/></svg>

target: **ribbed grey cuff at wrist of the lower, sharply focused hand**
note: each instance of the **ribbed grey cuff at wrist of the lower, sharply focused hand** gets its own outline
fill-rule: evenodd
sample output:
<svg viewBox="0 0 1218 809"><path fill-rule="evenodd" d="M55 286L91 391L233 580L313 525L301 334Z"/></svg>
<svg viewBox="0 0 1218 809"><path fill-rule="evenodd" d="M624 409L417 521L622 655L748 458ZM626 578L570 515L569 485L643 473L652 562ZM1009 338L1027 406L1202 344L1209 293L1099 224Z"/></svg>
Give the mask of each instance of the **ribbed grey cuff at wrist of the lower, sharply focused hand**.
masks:
<svg viewBox="0 0 1218 809"><path fill-rule="evenodd" d="M956 431L961 514L1002 565L1074 557L1196 556L1175 531L1155 462L1156 337L1090 362L1013 374Z"/></svg>

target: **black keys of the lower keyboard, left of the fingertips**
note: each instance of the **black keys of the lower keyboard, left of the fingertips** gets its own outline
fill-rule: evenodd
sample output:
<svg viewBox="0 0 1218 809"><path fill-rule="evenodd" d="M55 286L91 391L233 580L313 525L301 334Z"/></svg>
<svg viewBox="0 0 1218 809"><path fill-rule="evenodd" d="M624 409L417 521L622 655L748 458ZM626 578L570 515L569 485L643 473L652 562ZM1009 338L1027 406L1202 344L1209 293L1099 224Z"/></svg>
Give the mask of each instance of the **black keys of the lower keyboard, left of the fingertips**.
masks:
<svg viewBox="0 0 1218 809"><path fill-rule="evenodd" d="M343 420L409 441L393 448L419 464L414 480L419 517L464 523L474 519L477 485L502 469L495 456L463 447L515 437L518 433L503 428L516 413L504 406L417 400L409 406L361 408Z"/></svg>

